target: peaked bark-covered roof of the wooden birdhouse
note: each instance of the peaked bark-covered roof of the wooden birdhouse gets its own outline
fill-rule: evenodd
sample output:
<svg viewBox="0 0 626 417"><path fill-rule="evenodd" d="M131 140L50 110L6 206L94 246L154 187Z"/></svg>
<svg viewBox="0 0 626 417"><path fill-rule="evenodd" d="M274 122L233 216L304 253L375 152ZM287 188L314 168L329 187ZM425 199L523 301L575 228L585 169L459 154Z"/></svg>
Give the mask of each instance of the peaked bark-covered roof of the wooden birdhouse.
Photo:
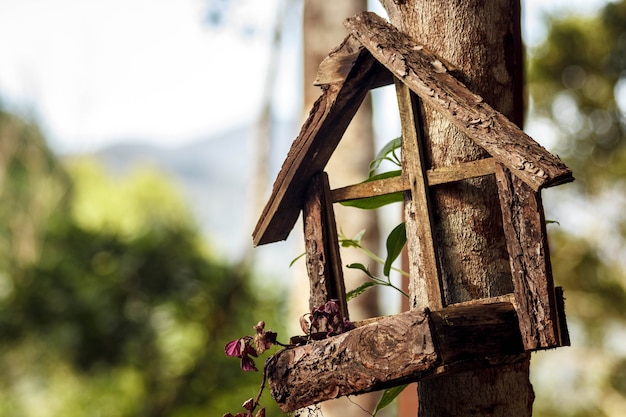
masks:
<svg viewBox="0 0 626 417"><path fill-rule="evenodd" d="M533 190L573 180L557 156L452 76L444 60L387 21L363 12L345 25L350 34L320 64L316 84L322 94L278 173L253 232L255 246L287 238L311 177L324 169L369 90L394 77Z"/></svg>

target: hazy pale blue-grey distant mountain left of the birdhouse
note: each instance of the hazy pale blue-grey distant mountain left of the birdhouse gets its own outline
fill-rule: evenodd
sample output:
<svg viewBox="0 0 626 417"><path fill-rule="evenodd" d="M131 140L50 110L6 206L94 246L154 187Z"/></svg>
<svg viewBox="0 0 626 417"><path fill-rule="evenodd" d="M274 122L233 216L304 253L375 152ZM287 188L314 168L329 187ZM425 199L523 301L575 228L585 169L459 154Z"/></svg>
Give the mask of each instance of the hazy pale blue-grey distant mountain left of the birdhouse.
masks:
<svg viewBox="0 0 626 417"><path fill-rule="evenodd" d="M270 185L297 134L294 129L285 124L275 128ZM137 165L166 173L180 184L210 244L237 261L252 246L258 215L258 208L251 207L254 134L253 127L241 127L173 149L129 141L95 156L114 174Z"/></svg>

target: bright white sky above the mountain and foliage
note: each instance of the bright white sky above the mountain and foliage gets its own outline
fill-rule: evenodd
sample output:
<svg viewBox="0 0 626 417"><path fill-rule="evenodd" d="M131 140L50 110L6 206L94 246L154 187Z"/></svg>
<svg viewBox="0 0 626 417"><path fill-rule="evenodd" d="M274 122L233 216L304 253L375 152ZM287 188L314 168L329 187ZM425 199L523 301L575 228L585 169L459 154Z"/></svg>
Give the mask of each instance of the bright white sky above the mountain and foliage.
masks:
<svg viewBox="0 0 626 417"><path fill-rule="evenodd" d="M277 3L239 0L217 29L203 0L0 0L0 99L36 117L60 152L176 146L251 122ZM523 1L526 41L541 40L543 11L598 3ZM284 117L300 114L297 26L281 65Z"/></svg>

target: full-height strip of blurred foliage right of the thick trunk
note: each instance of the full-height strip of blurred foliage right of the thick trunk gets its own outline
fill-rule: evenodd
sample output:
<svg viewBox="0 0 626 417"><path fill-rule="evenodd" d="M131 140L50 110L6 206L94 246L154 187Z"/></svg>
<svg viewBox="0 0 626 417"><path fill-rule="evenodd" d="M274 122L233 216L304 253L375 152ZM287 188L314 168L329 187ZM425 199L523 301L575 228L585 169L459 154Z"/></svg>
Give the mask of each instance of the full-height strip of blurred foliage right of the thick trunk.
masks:
<svg viewBox="0 0 626 417"><path fill-rule="evenodd" d="M576 182L547 193L552 265L572 346L532 362L537 417L626 415L626 1L553 16L529 56L531 118ZM541 139L541 138L539 138ZM567 219L569 218L569 219Z"/></svg>

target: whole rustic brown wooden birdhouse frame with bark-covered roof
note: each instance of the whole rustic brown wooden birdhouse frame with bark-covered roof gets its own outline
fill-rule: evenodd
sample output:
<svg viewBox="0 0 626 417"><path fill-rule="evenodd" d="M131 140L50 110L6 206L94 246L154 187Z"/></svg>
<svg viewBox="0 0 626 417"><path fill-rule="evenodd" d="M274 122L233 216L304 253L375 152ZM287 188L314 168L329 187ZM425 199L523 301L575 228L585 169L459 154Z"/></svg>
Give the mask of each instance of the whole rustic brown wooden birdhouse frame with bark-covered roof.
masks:
<svg viewBox="0 0 626 417"><path fill-rule="evenodd" d="M415 218L406 219L407 242L421 248L409 254L420 257L420 268L409 272L421 283L428 305L275 354L267 375L283 411L569 344L540 192L572 181L571 171L468 90L443 60L382 18L364 12L346 26L350 35L320 65L322 95L278 174L254 244L286 239L302 213L311 305L336 299L348 317L333 204L404 192L405 203L415 210ZM395 84L402 123L402 175L331 190L326 163L369 90L389 84ZM417 100L440 112L490 157L445 168L425 166L414 119ZM514 291L446 305L429 190L486 175L495 176L498 186Z"/></svg>

